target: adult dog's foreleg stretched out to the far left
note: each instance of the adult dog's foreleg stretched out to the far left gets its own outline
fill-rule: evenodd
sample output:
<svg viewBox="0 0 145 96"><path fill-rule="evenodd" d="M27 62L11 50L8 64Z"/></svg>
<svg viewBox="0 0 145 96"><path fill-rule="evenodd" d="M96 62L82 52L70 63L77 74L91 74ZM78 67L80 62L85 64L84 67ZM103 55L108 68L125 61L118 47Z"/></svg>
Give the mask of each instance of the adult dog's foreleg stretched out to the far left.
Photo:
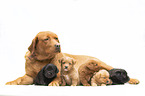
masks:
<svg viewBox="0 0 145 96"><path fill-rule="evenodd" d="M6 85L29 85L29 84L33 84L33 78L26 74L23 77L19 77L14 81L6 83Z"/></svg>

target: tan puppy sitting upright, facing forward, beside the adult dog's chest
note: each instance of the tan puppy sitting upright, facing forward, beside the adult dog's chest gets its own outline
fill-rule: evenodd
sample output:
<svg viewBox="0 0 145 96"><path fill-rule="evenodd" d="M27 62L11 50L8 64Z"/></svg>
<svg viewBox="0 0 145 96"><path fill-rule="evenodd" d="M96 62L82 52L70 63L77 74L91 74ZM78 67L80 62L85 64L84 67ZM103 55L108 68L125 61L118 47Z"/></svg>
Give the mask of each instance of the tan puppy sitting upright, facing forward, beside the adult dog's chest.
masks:
<svg viewBox="0 0 145 96"><path fill-rule="evenodd" d="M76 61L70 57L62 57L59 62L61 63L61 86L78 85L78 72L74 68Z"/></svg>

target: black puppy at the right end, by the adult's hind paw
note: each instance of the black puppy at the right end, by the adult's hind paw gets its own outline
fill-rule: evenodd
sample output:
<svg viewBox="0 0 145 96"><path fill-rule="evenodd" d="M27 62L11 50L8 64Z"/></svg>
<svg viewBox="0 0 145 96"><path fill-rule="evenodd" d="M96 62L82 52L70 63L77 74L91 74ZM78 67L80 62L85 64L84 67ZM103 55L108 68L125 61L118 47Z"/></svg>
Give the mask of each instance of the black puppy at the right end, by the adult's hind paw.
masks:
<svg viewBox="0 0 145 96"><path fill-rule="evenodd" d="M112 80L112 85L124 84L130 80L127 72L124 69L112 69L109 71L110 79Z"/></svg>

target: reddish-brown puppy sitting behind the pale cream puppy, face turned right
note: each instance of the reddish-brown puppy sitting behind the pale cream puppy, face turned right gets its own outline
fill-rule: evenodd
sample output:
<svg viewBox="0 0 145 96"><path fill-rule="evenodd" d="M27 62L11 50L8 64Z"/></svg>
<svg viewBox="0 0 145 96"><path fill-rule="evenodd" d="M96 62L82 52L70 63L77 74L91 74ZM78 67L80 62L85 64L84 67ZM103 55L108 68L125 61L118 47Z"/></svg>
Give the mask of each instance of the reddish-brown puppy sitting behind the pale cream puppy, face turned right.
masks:
<svg viewBox="0 0 145 96"><path fill-rule="evenodd" d="M97 72L100 69L102 69L102 67L95 59L88 60L86 63L82 64L78 70L81 84L84 86L90 86L89 83L91 77L93 76L94 72Z"/></svg>

